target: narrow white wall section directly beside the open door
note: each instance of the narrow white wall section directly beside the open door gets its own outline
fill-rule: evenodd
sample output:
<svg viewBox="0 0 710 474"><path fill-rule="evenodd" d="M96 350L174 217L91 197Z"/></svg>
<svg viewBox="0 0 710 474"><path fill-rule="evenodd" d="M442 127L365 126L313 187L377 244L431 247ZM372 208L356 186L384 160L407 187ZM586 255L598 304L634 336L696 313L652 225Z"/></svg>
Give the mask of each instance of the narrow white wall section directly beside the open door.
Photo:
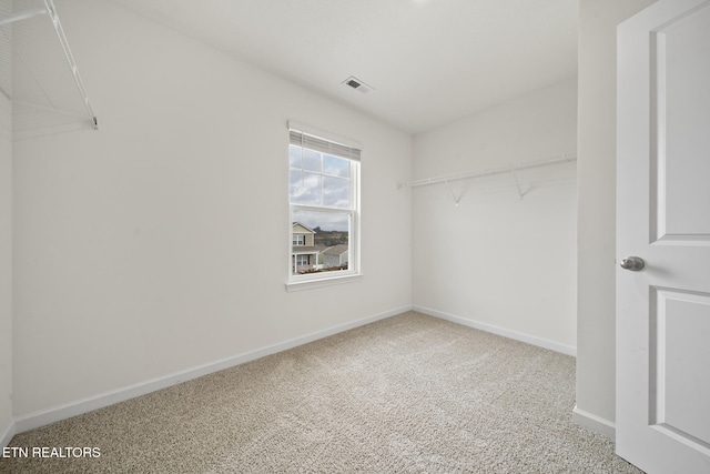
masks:
<svg viewBox="0 0 710 474"><path fill-rule="evenodd" d="M576 421L615 422L616 28L652 0L579 2Z"/></svg>

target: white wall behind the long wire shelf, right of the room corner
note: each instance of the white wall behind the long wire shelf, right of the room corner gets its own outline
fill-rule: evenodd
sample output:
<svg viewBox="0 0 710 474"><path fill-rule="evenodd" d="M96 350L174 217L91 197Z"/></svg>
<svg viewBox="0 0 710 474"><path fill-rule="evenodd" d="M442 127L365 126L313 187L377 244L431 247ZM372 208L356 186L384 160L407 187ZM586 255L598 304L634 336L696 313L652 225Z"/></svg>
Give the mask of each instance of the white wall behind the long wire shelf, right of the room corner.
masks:
<svg viewBox="0 0 710 474"><path fill-rule="evenodd" d="M575 154L577 80L415 137L415 179ZM574 353L576 167L415 188L414 305Z"/></svg>

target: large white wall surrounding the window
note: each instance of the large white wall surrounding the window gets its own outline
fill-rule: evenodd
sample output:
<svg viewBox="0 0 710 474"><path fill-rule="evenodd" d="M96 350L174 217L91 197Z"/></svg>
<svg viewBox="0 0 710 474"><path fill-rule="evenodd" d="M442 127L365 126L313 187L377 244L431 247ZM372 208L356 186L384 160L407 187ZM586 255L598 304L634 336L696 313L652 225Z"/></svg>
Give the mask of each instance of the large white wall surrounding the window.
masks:
<svg viewBox="0 0 710 474"><path fill-rule="evenodd" d="M101 130L16 142L19 418L410 307L408 134L113 3L60 7ZM285 291L288 119L364 144L361 282Z"/></svg>

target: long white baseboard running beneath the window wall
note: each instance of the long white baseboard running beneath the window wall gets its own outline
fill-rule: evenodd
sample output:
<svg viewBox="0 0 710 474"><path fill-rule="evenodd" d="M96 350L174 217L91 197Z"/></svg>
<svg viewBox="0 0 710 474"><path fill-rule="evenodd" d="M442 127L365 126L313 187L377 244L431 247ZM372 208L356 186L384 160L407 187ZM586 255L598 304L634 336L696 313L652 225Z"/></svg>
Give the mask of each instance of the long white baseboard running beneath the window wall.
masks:
<svg viewBox="0 0 710 474"><path fill-rule="evenodd" d="M136 396L145 395L158 390L166 389L172 385L178 385L183 382L187 382L193 379L201 377L214 372L230 369L235 365L244 364L246 362L254 361L256 359L264 357L266 355L275 354L277 352L286 351L288 349L297 347L310 342L317 341L323 337L327 337L344 331L348 331L355 327L363 326L365 324L373 323L375 321L384 320L404 312L410 311L412 306L402 306L383 313L374 314L367 317L352 321L349 323L339 324L328 327L323 331L316 331L310 334L305 334L300 337L294 337L277 344L267 345L262 349L245 352L233 357L227 357L221 361L216 361L210 364L189 369L186 371L175 372L170 375L153 379L134 385L124 386L111 392L104 392L94 396L81 399L71 403L54 406L47 410L37 411L26 415L17 416L14 418L13 435L22 433L36 427L44 426L50 423L55 423L62 420L70 418L72 416L81 415L83 413L92 412L94 410L103 409L104 406L113 405L120 402L124 402Z"/></svg>

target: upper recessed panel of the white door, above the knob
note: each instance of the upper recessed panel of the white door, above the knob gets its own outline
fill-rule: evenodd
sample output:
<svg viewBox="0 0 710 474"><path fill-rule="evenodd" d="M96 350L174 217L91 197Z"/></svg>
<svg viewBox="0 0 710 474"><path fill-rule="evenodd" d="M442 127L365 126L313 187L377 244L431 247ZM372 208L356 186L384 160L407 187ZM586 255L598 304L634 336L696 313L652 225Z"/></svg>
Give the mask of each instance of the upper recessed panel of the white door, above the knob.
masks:
<svg viewBox="0 0 710 474"><path fill-rule="evenodd" d="M698 160L710 150L710 69L697 67L710 56L708 24L706 7L653 32L651 81L658 110L657 185L665 198L658 203L660 222L666 221L659 236L710 244L710 220L704 219L710 214L710 160Z"/></svg>

